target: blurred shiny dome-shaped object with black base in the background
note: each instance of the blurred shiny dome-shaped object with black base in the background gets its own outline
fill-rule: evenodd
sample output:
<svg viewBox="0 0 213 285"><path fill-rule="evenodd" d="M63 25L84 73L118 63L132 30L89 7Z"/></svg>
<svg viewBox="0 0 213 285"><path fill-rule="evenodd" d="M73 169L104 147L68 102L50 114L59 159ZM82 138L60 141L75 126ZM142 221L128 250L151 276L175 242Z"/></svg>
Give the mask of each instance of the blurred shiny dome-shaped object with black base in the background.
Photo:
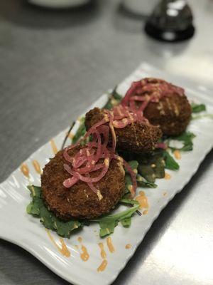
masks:
<svg viewBox="0 0 213 285"><path fill-rule="evenodd" d="M195 33L192 19L185 0L161 0L149 16L145 31L161 41L184 41Z"/></svg>

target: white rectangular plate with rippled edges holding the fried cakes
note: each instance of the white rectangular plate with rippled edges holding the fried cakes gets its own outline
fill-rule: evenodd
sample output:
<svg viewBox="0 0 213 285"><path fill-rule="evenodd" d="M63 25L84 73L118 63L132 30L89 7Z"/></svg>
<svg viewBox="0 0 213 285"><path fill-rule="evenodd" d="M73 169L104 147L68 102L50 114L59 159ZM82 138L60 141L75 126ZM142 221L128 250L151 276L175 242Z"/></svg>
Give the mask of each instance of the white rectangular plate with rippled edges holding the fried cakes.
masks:
<svg viewBox="0 0 213 285"><path fill-rule="evenodd" d="M145 63L141 64L131 76L119 85L118 92L124 95L132 81L150 76L164 78L167 81L179 84L185 88L186 94L190 99L205 103L208 113L213 113L213 100L207 95L189 88L184 81L175 81L171 76L166 76ZM102 107L106 102L107 94L104 94L88 110L94 106ZM77 121L72 133L75 133L78 125L79 122ZM158 188L156 189L143 189L150 206L148 214L141 217L135 215L130 228L124 228L120 225L116 227L114 234L111 236L115 248L114 253L109 252L106 239L99 238L98 225L92 224L89 227L84 227L81 232L72 235L70 239L65 239L71 256L68 258L62 256L55 244L50 241L45 228L40 224L39 220L26 213L26 206L30 201L29 192L26 190L28 179L23 175L20 167L0 185L0 237L18 244L28 252L31 252L48 268L72 284L111 284L121 269L124 268L127 261L133 256L136 247L141 243L151 224L160 214L160 211L189 182L204 157L212 149L213 124L211 119L194 120L190 123L188 130L196 135L193 151L182 153L182 159L179 161L180 170L177 172L167 171L171 175L170 180L158 180ZM67 130L54 138L55 145L58 148L60 148L66 132ZM53 157L53 149L50 142L40 147L26 160L25 163L30 170L29 180L33 184L40 185L40 175L33 167L33 160L37 160L40 166L43 167L48 162L49 157ZM53 232L51 234L60 245L60 238L57 234ZM77 249L75 247L75 245L80 245L77 240L79 236L82 237L82 243L89 252L88 261L82 261L80 258L81 248ZM97 272L98 266L102 263L98 246L99 242L104 243L108 261L107 268L100 273ZM131 244L131 248L126 249L126 244Z"/></svg>

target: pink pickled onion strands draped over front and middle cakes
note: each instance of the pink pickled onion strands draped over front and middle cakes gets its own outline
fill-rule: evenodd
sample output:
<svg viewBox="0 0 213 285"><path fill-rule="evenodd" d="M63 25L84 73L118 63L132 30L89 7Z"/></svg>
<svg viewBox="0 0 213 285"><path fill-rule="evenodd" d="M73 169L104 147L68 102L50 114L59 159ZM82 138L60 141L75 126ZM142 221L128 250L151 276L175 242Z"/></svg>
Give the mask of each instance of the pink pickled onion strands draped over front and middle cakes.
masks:
<svg viewBox="0 0 213 285"><path fill-rule="evenodd" d="M93 185L99 182L109 170L109 165L112 159L121 161L129 171L131 179L133 181L133 189L131 189L131 195L136 192L136 175L131 167L121 157L115 155L116 151L116 133L114 128L125 128L127 125L136 121L148 120L143 118L143 115L133 113L128 107L122 105L112 109L104 110L104 119L92 126L88 132L84 135L84 138L88 138L92 135L92 142L87 142L83 148L81 148L75 155L70 156L68 151L73 147L80 146L80 142L65 148L63 156L69 164L64 164L64 169L71 175L67 178L63 185L66 188L70 188L78 181L87 183L90 189L97 194L99 199L102 199L100 191ZM109 131L111 132L112 147L108 147L109 144ZM90 173L100 170L96 177L90 177Z"/></svg>

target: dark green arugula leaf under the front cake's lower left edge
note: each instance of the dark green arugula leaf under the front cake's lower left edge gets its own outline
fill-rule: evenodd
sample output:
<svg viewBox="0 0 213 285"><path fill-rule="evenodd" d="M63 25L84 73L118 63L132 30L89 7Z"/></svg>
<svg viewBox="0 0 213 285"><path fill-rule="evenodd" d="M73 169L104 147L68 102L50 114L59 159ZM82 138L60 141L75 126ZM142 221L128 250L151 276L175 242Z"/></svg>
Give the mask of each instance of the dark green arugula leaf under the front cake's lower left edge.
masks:
<svg viewBox="0 0 213 285"><path fill-rule="evenodd" d="M40 222L45 228L55 230L61 237L70 238L71 232L74 229L83 226L81 222L74 219L64 222L56 217L53 212L50 212L41 198L41 187L29 185L28 190L31 191L32 201L28 204L27 212L34 217L40 218Z"/></svg>

